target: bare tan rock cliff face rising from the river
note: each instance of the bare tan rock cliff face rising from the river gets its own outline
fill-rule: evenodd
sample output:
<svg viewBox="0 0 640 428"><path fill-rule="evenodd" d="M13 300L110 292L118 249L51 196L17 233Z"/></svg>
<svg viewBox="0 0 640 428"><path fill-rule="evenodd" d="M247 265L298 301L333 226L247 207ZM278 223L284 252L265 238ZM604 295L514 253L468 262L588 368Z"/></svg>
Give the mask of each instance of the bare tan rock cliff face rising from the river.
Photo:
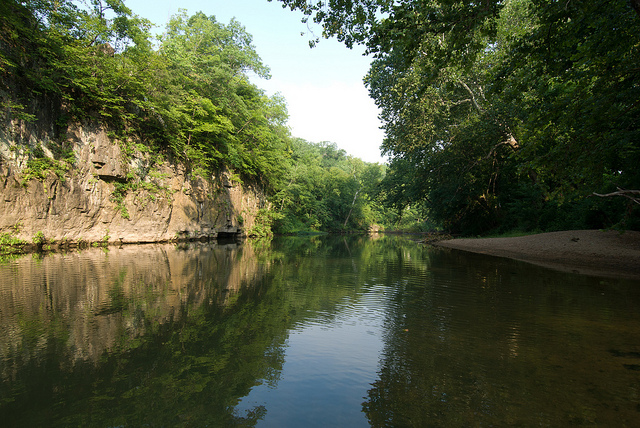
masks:
<svg viewBox="0 0 640 428"><path fill-rule="evenodd" d="M29 242L38 234L110 243L244 235L267 204L259 189L229 172L190 175L131 142L123 149L99 125L69 126L55 141L53 135L53 126L0 125L0 233ZM73 150L73 166L29 179L34 152L48 161L60 147Z"/></svg>

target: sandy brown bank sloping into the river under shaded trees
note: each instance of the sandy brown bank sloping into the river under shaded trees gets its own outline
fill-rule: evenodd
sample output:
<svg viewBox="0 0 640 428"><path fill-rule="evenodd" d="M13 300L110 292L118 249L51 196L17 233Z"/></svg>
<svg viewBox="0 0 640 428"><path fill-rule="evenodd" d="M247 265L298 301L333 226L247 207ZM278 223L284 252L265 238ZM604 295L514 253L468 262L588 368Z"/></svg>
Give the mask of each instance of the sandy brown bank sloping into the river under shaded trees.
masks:
<svg viewBox="0 0 640 428"><path fill-rule="evenodd" d="M513 238L451 239L433 245L584 275L640 280L640 232L571 230Z"/></svg>

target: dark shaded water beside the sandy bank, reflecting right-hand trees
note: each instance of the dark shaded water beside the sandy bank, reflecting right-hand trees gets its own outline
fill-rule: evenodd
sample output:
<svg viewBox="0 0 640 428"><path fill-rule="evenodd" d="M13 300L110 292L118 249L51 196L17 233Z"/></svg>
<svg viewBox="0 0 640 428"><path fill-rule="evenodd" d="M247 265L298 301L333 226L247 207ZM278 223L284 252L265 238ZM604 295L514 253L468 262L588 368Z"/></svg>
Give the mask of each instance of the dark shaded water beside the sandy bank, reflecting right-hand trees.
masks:
<svg viewBox="0 0 640 428"><path fill-rule="evenodd" d="M391 287L372 426L637 426L639 284L447 250L429 264Z"/></svg>

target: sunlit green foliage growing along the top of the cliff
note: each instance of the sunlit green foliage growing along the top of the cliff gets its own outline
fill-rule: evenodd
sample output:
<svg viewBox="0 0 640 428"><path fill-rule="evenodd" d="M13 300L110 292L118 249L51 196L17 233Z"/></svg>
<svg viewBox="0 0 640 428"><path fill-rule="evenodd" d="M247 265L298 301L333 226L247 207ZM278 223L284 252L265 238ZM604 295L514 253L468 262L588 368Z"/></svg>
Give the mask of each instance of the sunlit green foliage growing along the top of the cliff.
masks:
<svg viewBox="0 0 640 428"><path fill-rule="evenodd" d="M122 0L2 2L3 113L33 122L45 105L61 130L98 120L194 172L226 167L271 188L286 154L287 112L281 97L248 80L269 76L251 36L235 20L181 11L154 50L150 29ZM37 158L28 179L64 166Z"/></svg>

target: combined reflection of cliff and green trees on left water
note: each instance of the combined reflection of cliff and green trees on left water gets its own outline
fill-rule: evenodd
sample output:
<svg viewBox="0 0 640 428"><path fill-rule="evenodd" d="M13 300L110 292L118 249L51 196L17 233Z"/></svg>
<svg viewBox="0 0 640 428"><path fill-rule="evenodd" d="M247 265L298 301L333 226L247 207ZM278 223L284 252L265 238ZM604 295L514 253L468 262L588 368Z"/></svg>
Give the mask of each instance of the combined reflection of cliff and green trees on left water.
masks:
<svg viewBox="0 0 640 428"><path fill-rule="evenodd" d="M237 245L0 266L3 426L251 425L263 409L230 409L281 364L267 270Z"/></svg>

